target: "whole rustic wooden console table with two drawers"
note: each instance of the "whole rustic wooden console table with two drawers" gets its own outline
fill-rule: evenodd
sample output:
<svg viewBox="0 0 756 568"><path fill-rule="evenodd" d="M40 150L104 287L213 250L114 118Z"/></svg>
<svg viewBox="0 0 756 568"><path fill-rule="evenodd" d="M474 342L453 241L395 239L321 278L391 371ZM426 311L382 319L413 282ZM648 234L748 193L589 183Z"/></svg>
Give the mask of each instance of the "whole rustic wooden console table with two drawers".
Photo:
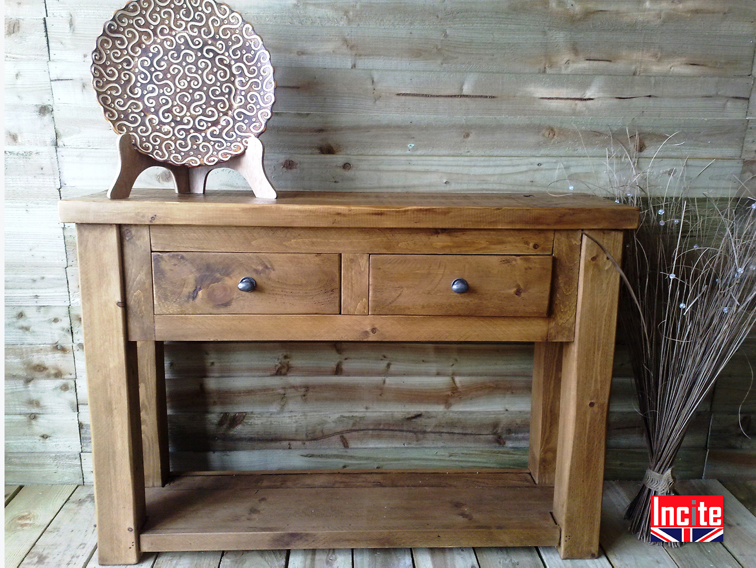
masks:
<svg viewBox="0 0 756 568"><path fill-rule="evenodd" d="M597 554L619 289L606 252L620 258L636 209L137 190L64 200L60 219L77 225L101 563L255 548ZM534 341L530 467L169 478L167 340Z"/></svg>

